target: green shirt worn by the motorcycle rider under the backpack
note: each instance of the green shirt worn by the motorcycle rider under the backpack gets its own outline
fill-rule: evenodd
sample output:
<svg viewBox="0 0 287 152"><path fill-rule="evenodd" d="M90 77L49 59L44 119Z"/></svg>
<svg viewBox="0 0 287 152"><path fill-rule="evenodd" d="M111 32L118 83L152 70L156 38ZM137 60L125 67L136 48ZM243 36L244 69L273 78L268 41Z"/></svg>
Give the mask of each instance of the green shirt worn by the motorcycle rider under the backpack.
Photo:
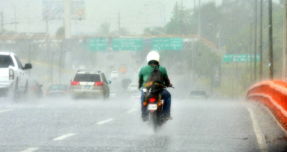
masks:
<svg viewBox="0 0 287 152"><path fill-rule="evenodd" d="M143 79L143 88L146 88L145 84L148 81L148 77L150 77L150 73L153 71L154 68L154 66L143 66L139 71L139 78ZM166 68L164 68L163 66L159 66L159 70L162 73L162 77L164 77L164 79L168 78Z"/></svg>

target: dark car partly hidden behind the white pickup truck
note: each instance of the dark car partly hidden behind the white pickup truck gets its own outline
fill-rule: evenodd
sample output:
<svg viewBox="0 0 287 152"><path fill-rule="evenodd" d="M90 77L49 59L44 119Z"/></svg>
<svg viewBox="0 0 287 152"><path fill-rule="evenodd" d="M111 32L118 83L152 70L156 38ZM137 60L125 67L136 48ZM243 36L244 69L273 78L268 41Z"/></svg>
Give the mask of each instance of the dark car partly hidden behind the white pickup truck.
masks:
<svg viewBox="0 0 287 152"><path fill-rule="evenodd" d="M29 97L43 97L42 84L35 79L28 79L28 95Z"/></svg>

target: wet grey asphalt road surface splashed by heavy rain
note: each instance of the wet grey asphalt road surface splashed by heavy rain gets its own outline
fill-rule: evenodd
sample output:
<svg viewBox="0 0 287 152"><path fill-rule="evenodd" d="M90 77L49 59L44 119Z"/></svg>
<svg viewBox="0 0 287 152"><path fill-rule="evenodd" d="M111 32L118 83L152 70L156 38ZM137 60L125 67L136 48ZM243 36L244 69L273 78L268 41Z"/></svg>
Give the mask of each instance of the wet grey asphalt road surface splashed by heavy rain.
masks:
<svg viewBox="0 0 287 152"><path fill-rule="evenodd" d="M3 99L2 99L3 102ZM265 108L246 102L173 99L157 133L137 99L41 99L0 106L0 151L261 151L247 108L268 151L286 151L284 132Z"/></svg>

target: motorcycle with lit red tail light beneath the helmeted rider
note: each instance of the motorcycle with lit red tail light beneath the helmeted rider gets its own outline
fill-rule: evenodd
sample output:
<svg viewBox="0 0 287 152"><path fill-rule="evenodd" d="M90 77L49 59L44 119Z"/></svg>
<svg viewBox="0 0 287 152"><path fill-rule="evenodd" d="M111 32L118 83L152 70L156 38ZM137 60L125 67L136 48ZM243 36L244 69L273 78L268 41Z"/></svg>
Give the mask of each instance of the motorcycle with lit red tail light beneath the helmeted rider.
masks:
<svg viewBox="0 0 287 152"><path fill-rule="evenodd" d="M146 101L143 102L143 106L147 106L148 112L148 124L153 126L153 130L155 133L157 132L157 128L164 125L168 120L164 118L164 100L162 99L162 95L160 93L151 93L149 91L144 90L146 92Z"/></svg>

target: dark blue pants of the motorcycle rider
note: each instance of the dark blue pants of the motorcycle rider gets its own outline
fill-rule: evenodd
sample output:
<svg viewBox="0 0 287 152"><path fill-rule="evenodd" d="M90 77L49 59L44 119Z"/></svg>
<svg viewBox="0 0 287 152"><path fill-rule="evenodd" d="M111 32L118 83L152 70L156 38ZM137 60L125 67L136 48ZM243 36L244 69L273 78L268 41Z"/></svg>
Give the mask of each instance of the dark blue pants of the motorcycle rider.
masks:
<svg viewBox="0 0 287 152"><path fill-rule="evenodd" d="M148 106L143 106L143 102L146 98L146 93L141 91L141 115L146 116L146 111L148 110ZM169 117L171 115L171 93L169 93L166 89L162 91L162 99L164 99L164 117Z"/></svg>

